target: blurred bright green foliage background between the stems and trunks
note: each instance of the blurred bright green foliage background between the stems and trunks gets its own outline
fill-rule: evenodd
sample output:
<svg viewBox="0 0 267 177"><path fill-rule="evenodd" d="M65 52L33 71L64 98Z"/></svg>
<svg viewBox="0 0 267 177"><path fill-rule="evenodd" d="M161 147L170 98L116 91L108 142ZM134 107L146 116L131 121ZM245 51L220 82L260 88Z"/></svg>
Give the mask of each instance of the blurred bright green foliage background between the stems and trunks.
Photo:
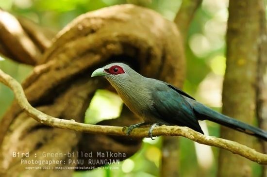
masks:
<svg viewBox="0 0 267 177"><path fill-rule="evenodd" d="M145 6L173 21L182 0L0 0L0 8L13 15L25 16L43 27L58 32L75 17L116 4L134 3ZM185 40L187 62L184 91L217 111L221 109L222 81L225 72L225 32L228 19L228 0L203 0L189 28ZM8 59L0 60L0 69L22 81L33 67ZM0 84L0 117L8 109L13 93ZM99 90L86 111L85 122L97 123L116 118L122 101L117 95ZM94 119L92 119L94 117ZM209 135L219 136L219 126L201 123ZM180 138L179 169L181 177L197 177L206 171L206 177L215 177L218 149L198 145ZM142 148L131 158L114 165L112 169L75 172L75 177L156 177L161 160L161 138L143 140ZM253 177L261 174L253 163Z"/></svg>

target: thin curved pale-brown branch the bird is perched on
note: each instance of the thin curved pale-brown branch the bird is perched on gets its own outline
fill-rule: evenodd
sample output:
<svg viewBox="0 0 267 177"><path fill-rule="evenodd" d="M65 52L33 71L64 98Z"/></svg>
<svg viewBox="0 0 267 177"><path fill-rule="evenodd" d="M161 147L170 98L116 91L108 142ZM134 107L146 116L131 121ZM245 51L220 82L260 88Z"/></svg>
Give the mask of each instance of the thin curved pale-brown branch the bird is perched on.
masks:
<svg viewBox="0 0 267 177"><path fill-rule="evenodd" d="M21 85L17 82L17 80L13 79L8 74L5 74L2 70L0 70L0 82L4 83L13 90L17 103L22 110L42 124L55 128L70 129L87 133L127 136L125 133L126 129L123 127L83 124L75 122L74 120L55 118L36 110L28 102ZM234 154L250 159L251 161L255 161L260 164L267 164L267 154L262 154L250 147L230 140L202 135L187 127L161 126L153 130L153 135L184 136L200 144L220 147L229 150ZM130 137L148 137L148 128L136 128L132 131Z"/></svg>

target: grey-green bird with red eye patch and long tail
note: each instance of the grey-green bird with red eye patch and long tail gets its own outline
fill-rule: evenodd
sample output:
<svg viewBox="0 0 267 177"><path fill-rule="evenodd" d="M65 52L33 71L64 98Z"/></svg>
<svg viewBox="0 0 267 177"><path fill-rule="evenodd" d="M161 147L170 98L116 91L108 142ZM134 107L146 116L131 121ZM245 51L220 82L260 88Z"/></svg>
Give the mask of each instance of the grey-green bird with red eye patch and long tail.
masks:
<svg viewBox="0 0 267 177"><path fill-rule="evenodd" d="M91 77L104 77L116 89L124 104L144 122L129 126L151 125L148 135L157 126L182 126L204 134L199 120L209 120L267 141L267 131L250 126L212 110L183 90L161 80L147 78L124 63L111 63L93 71Z"/></svg>

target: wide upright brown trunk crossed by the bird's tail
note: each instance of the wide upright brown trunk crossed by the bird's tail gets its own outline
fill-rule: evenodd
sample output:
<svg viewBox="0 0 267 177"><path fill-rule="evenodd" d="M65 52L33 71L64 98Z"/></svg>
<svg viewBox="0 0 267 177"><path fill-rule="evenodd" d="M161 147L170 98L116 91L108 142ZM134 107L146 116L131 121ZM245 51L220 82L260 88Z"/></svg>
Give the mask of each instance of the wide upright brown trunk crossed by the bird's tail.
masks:
<svg viewBox="0 0 267 177"><path fill-rule="evenodd" d="M230 0L223 113L248 124L255 116L260 5L262 0ZM221 127L221 137L252 146L256 140ZM251 162L225 150L219 153L219 177L250 177Z"/></svg>

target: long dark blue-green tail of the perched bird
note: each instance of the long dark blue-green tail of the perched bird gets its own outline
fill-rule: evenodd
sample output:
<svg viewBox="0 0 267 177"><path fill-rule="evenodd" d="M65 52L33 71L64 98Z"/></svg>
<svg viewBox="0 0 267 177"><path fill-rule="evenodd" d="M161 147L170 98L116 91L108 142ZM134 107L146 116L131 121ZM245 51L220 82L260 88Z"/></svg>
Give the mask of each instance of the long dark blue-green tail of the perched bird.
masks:
<svg viewBox="0 0 267 177"><path fill-rule="evenodd" d="M258 129L256 127L240 122L234 118L218 113L210 109L209 107L202 105L201 103L197 101L194 101L192 106L199 120L210 120L220 125L229 127L231 129L236 129L238 131L247 133L249 135L252 135L252 136L255 136L255 137L258 137L258 138L261 138L267 141L267 131Z"/></svg>

